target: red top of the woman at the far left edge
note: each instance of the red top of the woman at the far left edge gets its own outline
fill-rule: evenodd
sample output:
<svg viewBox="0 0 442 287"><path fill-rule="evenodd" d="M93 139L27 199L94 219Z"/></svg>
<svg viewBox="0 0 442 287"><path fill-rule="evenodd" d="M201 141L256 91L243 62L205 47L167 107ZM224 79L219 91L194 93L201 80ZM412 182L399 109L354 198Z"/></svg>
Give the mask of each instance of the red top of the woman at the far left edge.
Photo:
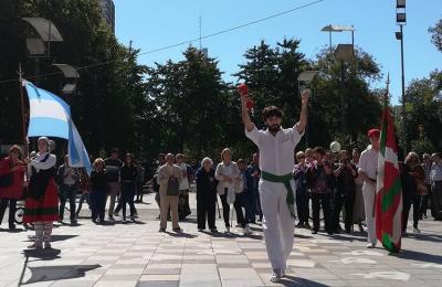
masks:
<svg viewBox="0 0 442 287"><path fill-rule="evenodd" d="M18 167L12 171L13 167ZM22 161L18 160L15 164L12 163L9 157L0 160L0 174L13 173L13 183L10 187L0 188L0 199L15 199L20 200L23 195L23 177L25 166Z"/></svg>

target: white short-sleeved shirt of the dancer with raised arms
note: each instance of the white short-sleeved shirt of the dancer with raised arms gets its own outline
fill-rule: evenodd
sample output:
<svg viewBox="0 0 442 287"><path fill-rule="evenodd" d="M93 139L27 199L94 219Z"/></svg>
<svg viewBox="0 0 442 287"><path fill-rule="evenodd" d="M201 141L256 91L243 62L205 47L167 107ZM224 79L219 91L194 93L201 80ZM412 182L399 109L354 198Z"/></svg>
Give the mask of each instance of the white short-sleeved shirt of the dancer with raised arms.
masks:
<svg viewBox="0 0 442 287"><path fill-rule="evenodd" d="M245 136L260 149L260 169L275 176L292 173L295 163L295 147L303 134L297 128L281 129L273 136L269 130L251 131L245 129Z"/></svg>

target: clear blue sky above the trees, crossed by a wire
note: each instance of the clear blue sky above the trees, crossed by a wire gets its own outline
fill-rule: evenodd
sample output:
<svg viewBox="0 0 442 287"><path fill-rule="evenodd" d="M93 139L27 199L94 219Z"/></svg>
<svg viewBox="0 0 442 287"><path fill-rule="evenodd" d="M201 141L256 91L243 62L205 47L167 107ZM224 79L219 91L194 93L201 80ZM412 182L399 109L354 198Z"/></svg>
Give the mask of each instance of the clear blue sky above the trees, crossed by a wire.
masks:
<svg viewBox="0 0 442 287"><path fill-rule="evenodd" d="M315 0L114 0L115 33L125 45L140 53L198 39L200 18L202 35L294 9ZM404 35L406 85L442 68L442 53L431 43L428 29L442 18L442 0L407 0ZM380 64L385 78L373 86L385 86L390 73L393 103L401 95L400 42L394 32L396 0L323 0L311 7L202 40L209 56L219 61L224 79L234 82L233 73L244 63L244 52L264 40L271 45L284 38L299 39L301 52L314 59L328 46L328 24L354 25L355 44ZM351 43L348 32L333 33L333 44ZM182 60L189 44L140 55L139 63L154 65L167 60ZM199 41L192 42L199 47Z"/></svg>

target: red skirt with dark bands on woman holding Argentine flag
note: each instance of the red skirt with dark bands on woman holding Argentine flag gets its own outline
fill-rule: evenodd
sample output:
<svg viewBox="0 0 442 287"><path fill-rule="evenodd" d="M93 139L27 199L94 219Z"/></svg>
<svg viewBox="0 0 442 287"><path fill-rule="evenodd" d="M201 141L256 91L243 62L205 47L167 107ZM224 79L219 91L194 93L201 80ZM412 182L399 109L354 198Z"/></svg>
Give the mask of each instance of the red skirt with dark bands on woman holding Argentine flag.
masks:
<svg viewBox="0 0 442 287"><path fill-rule="evenodd" d="M23 223L48 222L59 220L59 194L55 181L50 179L43 201L27 198L24 202Z"/></svg>

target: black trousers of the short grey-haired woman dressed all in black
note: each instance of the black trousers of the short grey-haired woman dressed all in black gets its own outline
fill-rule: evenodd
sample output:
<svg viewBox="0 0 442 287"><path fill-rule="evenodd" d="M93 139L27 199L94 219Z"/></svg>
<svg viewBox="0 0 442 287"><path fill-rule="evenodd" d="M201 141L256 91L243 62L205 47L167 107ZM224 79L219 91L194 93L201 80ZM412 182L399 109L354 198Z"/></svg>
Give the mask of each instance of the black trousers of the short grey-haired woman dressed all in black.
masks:
<svg viewBox="0 0 442 287"><path fill-rule="evenodd" d="M209 194L197 194L197 223L199 230L206 230L206 215L209 230L217 228L215 222L215 208L217 208L217 193L208 191Z"/></svg>

